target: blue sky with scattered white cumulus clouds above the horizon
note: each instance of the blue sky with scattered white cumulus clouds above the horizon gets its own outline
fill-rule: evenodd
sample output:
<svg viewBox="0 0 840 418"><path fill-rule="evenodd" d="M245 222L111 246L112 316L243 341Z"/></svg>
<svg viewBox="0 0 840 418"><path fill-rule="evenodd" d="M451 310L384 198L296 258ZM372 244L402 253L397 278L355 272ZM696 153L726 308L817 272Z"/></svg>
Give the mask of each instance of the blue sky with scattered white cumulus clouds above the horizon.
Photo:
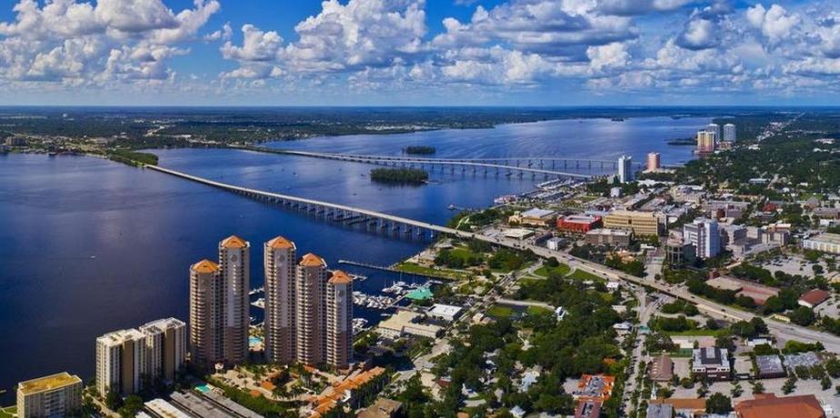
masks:
<svg viewBox="0 0 840 418"><path fill-rule="evenodd" d="M0 0L3 105L834 105L840 1Z"/></svg>

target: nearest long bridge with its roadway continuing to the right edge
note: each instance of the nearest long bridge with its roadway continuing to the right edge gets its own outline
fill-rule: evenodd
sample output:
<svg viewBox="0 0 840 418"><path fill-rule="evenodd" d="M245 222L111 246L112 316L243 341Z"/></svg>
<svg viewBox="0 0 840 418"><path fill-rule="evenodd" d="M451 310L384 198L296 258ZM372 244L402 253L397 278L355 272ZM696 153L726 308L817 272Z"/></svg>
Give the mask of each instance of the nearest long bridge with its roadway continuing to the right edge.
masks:
<svg viewBox="0 0 840 418"><path fill-rule="evenodd" d="M486 243L501 245L508 248L531 250L541 257L556 257L561 263L567 264L573 270L580 269L582 271L595 274L599 277L605 277L606 279L619 280L630 284L641 285L652 289L656 292L668 294L677 299L684 300L690 304L695 304L698 309L721 319L727 319L730 321L749 321L755 318L756 316L759 316L748 312L740 311L723 304L716 304L715 302L695 296L695 294L691 294L690 292L688 292L688 290L685 289L685 286L672 286L667 284L656 283L654 281L648 281L641 277L636 277L634 275L625 274L624 272L611 269L603 264L596 264L588 260L574 257L567 253L552 251L545 247L533 244L526 244L519 240L511 238L494 237L485 234L475 234L472 232L459 231L453 228L416 221L414 219L396 216L393 214L383 214L381 212L375 212L343 204L331 204L328 202L322 202L314 199L306 199L303 197L296 197L287 194L275 194L261 190L240 187L233 184L215 182L213 180L177 172L175 170L169 170L156 165L146 165L146 167L160 173L175 175L177 177L181 177L186 180L191 180L199 184L214 186L219 189L223 189L237 194L245 194L246 196L252 198L271 200L278 204L303 205L303 207L305 207L307 210L313 210L313 208L315 208L315 210L330 209L334 211L333 214L355 214L366 216L367 220L386 221L390 223L392 227L394 225L405 225L406 227L417 228L417 231L426 230L436 232L439 234L455 235L461 238L474 238L480 241L484 241ZM405 228L403 229L403 231L412 232L411 229ZM837 335L815 331L813 329L798 326L793 323L779 323L774 320L768 320L765 322L767 323L767 327L770 328L770 330L773 333L775 333L777 337L780 337L783 340L795 339L807 343L819 341L823 343L826 350L834 353L840 353L840 337L838 337Z"/></svg>

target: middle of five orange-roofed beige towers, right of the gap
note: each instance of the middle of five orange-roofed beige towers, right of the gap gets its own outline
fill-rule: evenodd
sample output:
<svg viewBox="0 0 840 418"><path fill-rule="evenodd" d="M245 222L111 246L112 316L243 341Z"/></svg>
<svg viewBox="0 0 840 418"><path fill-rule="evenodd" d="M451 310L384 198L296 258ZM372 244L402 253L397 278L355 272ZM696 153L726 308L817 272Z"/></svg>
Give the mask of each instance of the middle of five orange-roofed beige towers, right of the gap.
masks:
<svg viewBox="0 0 840 418"><path fill-rule="evenodd" d="M265 359L295 361L295 243L278 236L265 243Z"/></svg>

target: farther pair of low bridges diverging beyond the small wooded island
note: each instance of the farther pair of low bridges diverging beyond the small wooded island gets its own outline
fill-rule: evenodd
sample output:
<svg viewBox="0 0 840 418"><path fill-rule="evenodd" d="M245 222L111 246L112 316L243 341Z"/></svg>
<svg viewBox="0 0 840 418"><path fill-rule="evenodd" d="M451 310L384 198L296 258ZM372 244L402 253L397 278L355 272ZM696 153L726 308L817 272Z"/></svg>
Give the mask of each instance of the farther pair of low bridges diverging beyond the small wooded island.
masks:
<svg viewBox="0 0 840 418"><path fill-rule="evenodd" d="M531 174L532 177L542 175L548 177L564 177L575 179L589 179L593 174L568 173L563 170L572 169L600 169L616 170L618 162L612 160L592 160L579 158L542 158L542 157L509 157L509 158L425 158L400 155L370 155L370 154L338 154L317 153L311 151L293 151L266 148L263 146L247 146L242 149L268 154L297 155L327 160L347 161L352 163L377 164L402 167L429 167L440 170L449 169L450 173L459 170L461 173L471 172L483 174L504 174L519 176Z"/></svg>

